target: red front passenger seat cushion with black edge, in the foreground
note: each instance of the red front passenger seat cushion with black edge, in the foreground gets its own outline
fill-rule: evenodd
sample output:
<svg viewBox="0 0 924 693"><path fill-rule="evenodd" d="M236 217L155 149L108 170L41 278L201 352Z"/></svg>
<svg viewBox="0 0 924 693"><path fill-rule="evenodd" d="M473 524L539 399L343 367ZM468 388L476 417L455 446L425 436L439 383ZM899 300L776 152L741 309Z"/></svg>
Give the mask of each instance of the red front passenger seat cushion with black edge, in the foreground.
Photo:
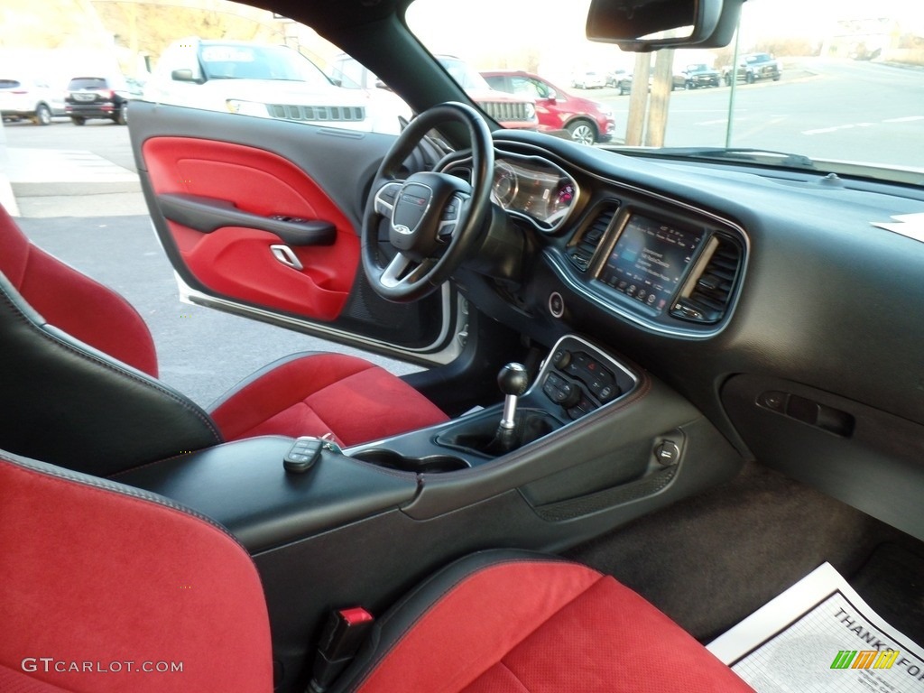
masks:
<svg viewBox="0 0 924 693"><path fill-rule="evenodd" d="M751 690L612 577L512 551L473 554L421 584L374 627L337 687L362 693L569 689Z"/></svg>

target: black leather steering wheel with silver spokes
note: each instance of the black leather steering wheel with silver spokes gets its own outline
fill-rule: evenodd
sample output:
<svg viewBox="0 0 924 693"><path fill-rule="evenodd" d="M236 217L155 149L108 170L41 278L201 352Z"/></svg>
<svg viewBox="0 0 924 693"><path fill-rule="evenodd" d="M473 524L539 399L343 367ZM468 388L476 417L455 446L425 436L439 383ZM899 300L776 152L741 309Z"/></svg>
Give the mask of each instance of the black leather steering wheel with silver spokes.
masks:
<svg viewBox="0 0 924 693"><path fill-rule="evenodd" d="M471 184L424 171L398 177L420 140L447 121L468 128ZM441 286L480 237L491 205L494 148L491 130L471 106L447 102L414 118L395 140L376 174L362 219L362 269L379 296L398 303L423 298ZM388 244L397 252L380 263L379 227L388 220Z"/></svg>

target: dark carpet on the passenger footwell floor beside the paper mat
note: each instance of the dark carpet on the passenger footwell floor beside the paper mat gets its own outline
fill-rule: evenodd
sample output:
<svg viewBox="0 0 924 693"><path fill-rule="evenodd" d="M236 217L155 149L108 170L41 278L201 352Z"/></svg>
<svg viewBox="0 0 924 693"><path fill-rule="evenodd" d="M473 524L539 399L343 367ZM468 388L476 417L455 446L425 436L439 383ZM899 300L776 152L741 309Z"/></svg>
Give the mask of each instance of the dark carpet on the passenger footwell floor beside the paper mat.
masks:
<svg viewBox="0 0 924 693"><path fill-rule="evenodd" d="M895 627L924 642L924 633L912 632L924 627L922 546L849 505L748 464L735 480L568 556L613 575L703 641L828 561L883 617L893 616Z"/></svg>

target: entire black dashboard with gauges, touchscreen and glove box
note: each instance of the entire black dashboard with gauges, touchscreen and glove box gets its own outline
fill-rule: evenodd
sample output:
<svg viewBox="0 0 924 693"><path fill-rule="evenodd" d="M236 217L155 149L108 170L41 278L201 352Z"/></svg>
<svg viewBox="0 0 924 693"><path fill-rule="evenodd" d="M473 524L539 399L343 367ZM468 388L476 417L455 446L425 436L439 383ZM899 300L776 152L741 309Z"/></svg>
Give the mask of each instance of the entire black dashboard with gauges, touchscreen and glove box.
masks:
<svg viewBox="0 0 924 693"><path fill-rule="evenodd" d="M924 244L878 225L924 212L920 188L533 133L495 152L535 261L518 284L461 275L480 310L541 345L589 335L745 456L924 536Z"/></svg>

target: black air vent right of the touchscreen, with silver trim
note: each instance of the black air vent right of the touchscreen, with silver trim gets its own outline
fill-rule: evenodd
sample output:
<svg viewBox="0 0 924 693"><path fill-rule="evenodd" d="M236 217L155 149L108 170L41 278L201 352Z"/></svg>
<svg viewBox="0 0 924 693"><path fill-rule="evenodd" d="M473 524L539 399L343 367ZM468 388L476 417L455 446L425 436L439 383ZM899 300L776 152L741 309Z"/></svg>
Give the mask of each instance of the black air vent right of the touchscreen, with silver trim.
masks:
<svg viewBox="0 0 924 693"><path fill-rule="evenodd" d="M735 296L742 256L736 240L719 234L711 237L671 315L689 322L721 321Z"/></svg>

